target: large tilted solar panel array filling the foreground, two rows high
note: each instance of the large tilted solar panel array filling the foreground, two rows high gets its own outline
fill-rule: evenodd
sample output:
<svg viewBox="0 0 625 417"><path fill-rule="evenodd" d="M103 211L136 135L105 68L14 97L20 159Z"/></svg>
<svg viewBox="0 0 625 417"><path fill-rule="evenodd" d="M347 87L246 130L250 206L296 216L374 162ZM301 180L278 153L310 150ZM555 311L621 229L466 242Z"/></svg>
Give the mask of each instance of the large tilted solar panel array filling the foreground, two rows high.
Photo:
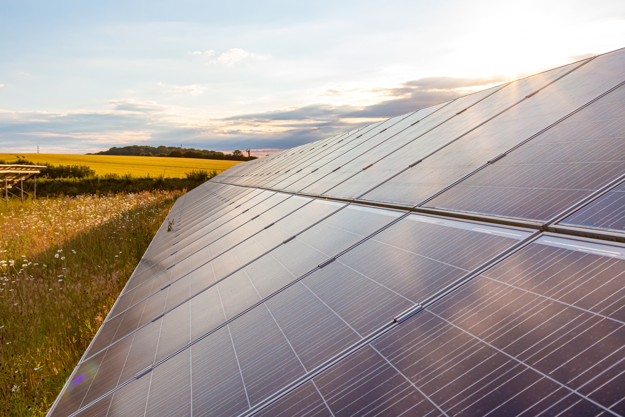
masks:
<svg viewBox="0 0 625 417"><path fill-rule="evenodd" d="M179 198L49 416L624 416L625 49Z"/></svg>

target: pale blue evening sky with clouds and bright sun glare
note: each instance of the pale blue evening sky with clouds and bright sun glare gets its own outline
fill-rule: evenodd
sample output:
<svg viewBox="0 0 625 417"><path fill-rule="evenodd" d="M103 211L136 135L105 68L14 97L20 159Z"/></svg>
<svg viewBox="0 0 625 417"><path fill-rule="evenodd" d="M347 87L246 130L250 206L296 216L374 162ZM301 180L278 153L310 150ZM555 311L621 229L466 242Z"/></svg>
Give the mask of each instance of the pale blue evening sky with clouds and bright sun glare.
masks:
<svg viewBox="0 0 625 417"><path fill-rule="evenodd" d="M624 47L622 0L0 0L0 152L263 156Z"/></svg>

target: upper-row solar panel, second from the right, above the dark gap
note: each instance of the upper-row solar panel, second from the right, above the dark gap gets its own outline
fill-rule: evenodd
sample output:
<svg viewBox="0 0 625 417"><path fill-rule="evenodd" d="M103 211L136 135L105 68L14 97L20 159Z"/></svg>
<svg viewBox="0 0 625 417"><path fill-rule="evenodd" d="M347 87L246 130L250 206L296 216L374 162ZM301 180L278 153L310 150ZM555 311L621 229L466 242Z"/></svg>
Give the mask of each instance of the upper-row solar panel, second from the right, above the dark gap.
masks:
<svg viewBox="0 0 625 417"><path fill-rule="evenodd" d="M619 87L426 203L547 221L625 173Z"/></svg>

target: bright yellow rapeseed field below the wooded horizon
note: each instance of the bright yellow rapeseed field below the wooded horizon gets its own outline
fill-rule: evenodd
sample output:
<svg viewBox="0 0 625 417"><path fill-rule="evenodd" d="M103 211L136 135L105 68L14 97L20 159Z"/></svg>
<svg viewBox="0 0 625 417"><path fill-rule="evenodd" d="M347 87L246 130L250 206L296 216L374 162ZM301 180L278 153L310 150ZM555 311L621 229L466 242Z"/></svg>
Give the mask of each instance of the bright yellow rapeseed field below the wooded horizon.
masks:
<svg viewBox="0 0 625 417"><path fill-rule="evenodd" d="M160 176L183 178L192 169L226 171L240 161L219 161L216 159L193 158L157 158L146 156L114 156L114 155L72 155L72 154L36 154L36 153L0 153L0 159L7 162L17 158L27 159L37 164L53 165L88 165L98 175L128 173L136 177Z"/></svg>

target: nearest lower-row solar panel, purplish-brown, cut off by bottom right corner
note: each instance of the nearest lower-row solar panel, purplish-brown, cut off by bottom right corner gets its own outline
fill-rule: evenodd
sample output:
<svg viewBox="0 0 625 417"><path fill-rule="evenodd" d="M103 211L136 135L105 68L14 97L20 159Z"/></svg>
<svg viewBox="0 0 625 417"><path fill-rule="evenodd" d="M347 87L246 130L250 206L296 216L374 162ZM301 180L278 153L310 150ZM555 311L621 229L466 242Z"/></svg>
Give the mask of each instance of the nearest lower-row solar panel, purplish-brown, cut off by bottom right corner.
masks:
<svg viewBox="0 0 625 417"><path fill-rule="evenodd" d="M622 415L624 268L544 236L256 415Z"/></svg>

